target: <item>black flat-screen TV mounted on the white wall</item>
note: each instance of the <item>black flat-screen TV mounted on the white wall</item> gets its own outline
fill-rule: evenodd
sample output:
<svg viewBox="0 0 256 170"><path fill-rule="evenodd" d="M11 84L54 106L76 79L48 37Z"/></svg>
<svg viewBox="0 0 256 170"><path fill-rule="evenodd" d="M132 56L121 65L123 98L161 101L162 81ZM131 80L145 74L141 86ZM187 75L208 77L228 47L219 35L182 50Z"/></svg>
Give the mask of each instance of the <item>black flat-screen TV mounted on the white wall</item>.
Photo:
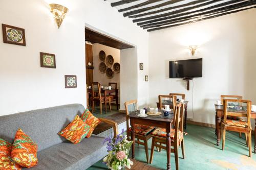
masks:
<svg viewBox="0 0 256 170"><path fill-rule="evenodd" d="M202 77L203 59L179 60L169 62L169 78Z"/></svg>

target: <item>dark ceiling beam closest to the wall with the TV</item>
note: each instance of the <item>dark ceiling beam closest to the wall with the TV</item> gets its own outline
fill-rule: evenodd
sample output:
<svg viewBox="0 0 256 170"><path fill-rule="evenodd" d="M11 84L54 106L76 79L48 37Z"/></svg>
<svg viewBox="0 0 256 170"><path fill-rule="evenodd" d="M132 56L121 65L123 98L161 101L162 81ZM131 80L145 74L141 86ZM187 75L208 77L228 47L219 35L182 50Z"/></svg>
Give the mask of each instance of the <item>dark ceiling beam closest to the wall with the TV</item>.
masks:
<svg viewBox="0 0 256 170"><path fill-rule="evenodd" d="M172 27L177 27L177 26L182 26L182 25L186 25L186 24L189 24L189 23L194 23L194 22L198 22L198 21L202 21L202 20L206 20L206 19L216 18L216 17L220 17L220 16L223 16L223 15L228 15L228 14L231 14L231 13L236 13L236 12L240 12L240 11L244 11L244 10L248 10L248 9L252 9L252 8L256 8L256 7L254 6L254 7L244 8L244 9L240 9L240 10L230 11L230 12L226 12L226 13L222 13L222 14L214 15L214 16L209 16L209 17L206 17L206 18L198 19L198 20L193 20L193 21L184 22L184 23L178 23L178 24L175 24L175 25L159 27L159 28L154 28L154 29L148 29L147 32L166 29L166 28L172 28Z"/></svg>

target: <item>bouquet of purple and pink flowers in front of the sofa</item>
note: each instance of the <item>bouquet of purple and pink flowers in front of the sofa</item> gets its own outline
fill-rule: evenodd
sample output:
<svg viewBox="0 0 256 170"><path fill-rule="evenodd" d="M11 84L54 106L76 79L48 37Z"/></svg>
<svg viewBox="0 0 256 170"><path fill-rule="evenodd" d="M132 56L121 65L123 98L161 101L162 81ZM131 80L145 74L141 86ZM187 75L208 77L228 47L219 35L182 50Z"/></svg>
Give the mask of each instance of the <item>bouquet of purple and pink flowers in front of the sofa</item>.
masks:
<svg viewBox="0 0 256 170"><path fill-rule="evenodd" d="M116 138L107 137L103 140L103 144L107 143L108 155L103 159L111 170L120 170L124 167L131 168L133 162L128 158L133 141L128 141L127 136L122 133L117 135Z"/></svg>

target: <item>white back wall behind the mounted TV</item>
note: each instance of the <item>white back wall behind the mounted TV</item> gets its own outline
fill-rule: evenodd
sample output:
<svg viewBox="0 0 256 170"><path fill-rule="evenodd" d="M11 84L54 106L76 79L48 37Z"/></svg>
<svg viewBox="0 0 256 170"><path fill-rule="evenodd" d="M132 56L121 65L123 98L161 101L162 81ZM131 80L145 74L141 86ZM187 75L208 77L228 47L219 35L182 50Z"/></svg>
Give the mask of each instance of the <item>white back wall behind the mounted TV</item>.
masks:
<svg viewBox="0 0 256 170"><path fill-rule="evenodd" d="M215 124L214 103L221 94L243 95L256 105L256 10L150 33L149 103L159 94L186 94L188 118ZM195 57L189 45L199 45ZM190 81L190 91L181 79L169 79L169 61L203 58L203 78ZM194 91L194 116L193 116ZM254 124L254 121L252 122Z"/></svg>

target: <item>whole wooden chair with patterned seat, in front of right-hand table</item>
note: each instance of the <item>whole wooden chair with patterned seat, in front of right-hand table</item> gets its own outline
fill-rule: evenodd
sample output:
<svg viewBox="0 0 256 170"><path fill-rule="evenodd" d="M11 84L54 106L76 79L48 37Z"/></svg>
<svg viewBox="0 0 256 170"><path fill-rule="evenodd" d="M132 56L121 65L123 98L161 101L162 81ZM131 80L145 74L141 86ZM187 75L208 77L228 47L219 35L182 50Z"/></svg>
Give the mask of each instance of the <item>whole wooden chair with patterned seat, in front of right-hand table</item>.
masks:
<svg viewBox="0 0 256 170"><path fill-rule="evenodd" d="M223 105L224 117L221 123L222 150L225 147L226 131L241 132L246 134L246 143L249 148L249 156L251 157L251 101L225 99L223 100ZM228 116L246 117L246 120L228 119Z"/></svg>

